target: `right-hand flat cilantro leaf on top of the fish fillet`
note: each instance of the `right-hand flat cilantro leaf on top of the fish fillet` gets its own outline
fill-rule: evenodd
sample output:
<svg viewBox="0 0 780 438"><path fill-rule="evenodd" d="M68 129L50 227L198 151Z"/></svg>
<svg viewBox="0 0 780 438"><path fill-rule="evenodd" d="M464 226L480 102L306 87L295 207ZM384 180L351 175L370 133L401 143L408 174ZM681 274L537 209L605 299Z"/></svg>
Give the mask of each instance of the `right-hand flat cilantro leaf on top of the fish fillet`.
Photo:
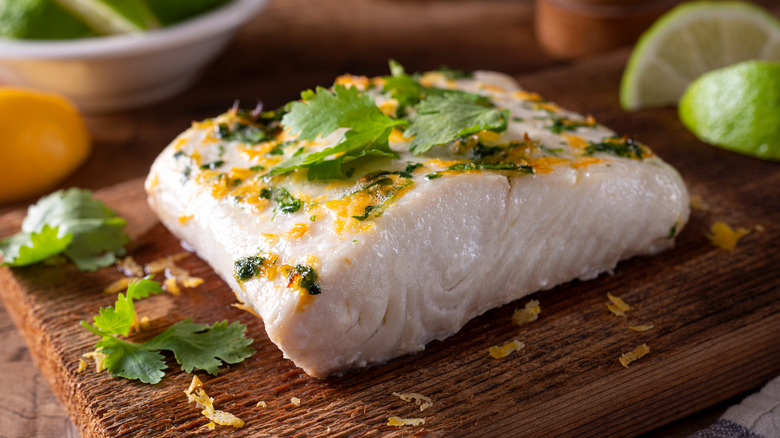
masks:
<svg viewBox="0 0 780 438"><path fill-rule="evenodd" d="M493 108L484 98L465 93L430 95L415 107L405 137L414 136L409 149L419 155L432 147L482 130L503 131L508 110Z"/></svg>

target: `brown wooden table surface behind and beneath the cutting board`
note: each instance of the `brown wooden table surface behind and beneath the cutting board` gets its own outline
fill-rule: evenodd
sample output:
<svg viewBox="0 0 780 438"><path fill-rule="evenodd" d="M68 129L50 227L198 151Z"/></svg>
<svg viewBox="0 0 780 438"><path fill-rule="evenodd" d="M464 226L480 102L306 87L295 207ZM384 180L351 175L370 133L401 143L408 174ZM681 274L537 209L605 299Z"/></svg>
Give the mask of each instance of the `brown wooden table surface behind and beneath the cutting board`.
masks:
<svg viewBox="0 0 780 438"><path fill-rule="evenodd" d="M192 120L218 114L235 99L252 106L262 98L276 107L343 72L386 74L389 58L409 71L448 65L518 75L558 66L535 41L533 12L531 0L276 0L183 94L139 110L87 117L95 149L62 185L98 189L143 176ZM164 124L160 114L166 115ZM0 214L26 204L0 206ZM2 304L0 334L0 437L79 436ZM684 436L736 401L650 436Z"/></svg>

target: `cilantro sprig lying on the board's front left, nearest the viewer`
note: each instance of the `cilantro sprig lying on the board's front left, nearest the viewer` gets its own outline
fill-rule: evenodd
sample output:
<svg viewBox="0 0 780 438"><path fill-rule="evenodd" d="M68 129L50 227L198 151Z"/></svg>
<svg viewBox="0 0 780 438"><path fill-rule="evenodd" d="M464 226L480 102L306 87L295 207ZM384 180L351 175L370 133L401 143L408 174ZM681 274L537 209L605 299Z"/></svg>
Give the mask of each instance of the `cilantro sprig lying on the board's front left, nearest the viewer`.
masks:
<svg viewBox="0 0 780 438"><path fill-rule="evenodd" d="M244 336L246 326L227 321L212 326L179 321L145 343L133 343L117 337L127 336L137 315L134 300L162 292L160 283L148 276L135 280L127 288L126 295L119 294L114 306L101 308L93 322L81 321L81 326L101 338L95 347L107 355L104 364L112 376L158 383L167 368L161 351L171 351L181 368L188 373L195 369L217 375L224 363L235 364L255 353L249 347L251 338Z"/></svg>

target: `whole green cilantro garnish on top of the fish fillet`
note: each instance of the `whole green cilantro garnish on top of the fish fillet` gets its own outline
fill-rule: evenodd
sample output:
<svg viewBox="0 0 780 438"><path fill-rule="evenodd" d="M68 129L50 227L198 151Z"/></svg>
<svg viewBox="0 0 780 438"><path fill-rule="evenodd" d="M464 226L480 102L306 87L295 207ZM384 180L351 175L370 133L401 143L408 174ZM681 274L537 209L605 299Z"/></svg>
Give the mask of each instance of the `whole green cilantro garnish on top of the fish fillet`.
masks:
<svg viewBox="0 0 780 438"><path fill-rule="evenodd" d="M390 71L383 91L398 100L397 117L384 114L368 93L344 85L304 91L301 101L286 105L282 125L300 140L312 141L339 129L346 132L335 146L293 156L269 174L307 169L310 180L344 178L344 165L350 161L398 158L388 145L394 128L405 129L406 137L414 137L410 150L416 155L465 135L507 128L509 111L496 108L484 96L426 87L392 60Z"/></svg>

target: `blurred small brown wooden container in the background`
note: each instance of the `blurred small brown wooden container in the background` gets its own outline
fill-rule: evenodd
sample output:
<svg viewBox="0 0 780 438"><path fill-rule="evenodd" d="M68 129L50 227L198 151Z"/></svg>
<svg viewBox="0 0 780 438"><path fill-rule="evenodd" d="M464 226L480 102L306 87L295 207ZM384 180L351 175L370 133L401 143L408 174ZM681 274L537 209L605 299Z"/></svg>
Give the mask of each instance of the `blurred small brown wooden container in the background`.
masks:
<svg viewBox="0 0 780 438"><path fill-rule="evenodd" d="M551 56L571 59L636 42L680 0L536 0L536 37Z"/></svg>

